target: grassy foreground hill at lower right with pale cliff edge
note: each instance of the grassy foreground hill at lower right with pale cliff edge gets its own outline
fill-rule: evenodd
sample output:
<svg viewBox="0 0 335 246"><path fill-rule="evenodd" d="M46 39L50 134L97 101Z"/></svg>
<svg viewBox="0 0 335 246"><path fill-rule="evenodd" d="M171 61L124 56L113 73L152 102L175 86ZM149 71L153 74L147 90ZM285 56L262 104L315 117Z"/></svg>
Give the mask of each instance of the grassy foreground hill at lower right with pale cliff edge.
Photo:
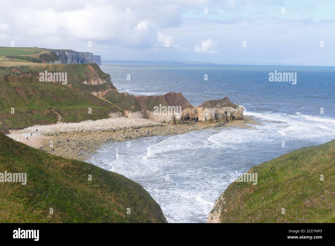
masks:
<svg viewBox="0 0 335 246"><path fill-rule="evenodd" d="M335 222L335 140L292 151L249 172L258 173L258 184L231 183L208 222Z"/></svg>

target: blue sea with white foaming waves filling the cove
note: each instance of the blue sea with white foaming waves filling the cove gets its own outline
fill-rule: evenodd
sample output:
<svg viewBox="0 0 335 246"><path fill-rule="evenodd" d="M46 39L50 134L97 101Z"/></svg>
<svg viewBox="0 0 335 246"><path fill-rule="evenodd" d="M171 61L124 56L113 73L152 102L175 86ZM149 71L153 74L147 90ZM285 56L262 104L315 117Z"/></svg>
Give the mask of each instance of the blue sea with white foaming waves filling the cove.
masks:
<svg viewBox="0 0 335 246"><path fill-rule="evenodd" d="M194 106L228 96L246 107L245 115L262 123L249 129L217 128L106 144L89 159L140 183L170 223L206 222L215 200L230 183L230 173L244 173L294 149L335 139L334 67L158 63L100 67L120 92L182 92ZM296 72L297 83L269 82L268 74L275 70Z"/></svg>

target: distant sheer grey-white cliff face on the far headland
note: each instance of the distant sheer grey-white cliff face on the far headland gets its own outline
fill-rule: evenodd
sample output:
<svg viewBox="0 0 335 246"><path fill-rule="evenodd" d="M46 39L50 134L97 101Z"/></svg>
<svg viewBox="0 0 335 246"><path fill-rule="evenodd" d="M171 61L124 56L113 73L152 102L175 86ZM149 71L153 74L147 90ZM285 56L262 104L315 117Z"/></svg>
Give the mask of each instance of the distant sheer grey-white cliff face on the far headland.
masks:
<svg viewBox="0 0 335 246"><path fill-rule="evenodd" d="M101 57L95 56L89 52L77 52L73 50L53 50L45 49L53 52L59 57L56 61L47 61L47 63L53 64L83 64L83 63L96 63L101 65Z"/></svg>

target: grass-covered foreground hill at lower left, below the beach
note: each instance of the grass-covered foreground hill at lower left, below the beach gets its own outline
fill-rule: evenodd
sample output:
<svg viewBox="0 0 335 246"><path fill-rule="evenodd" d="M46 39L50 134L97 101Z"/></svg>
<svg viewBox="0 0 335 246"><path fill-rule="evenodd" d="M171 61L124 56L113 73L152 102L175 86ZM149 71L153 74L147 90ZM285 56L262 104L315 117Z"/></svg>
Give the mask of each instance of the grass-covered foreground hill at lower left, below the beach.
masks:
<svg viewBox="0 0 335 246"><path fill-rule="evenodd" d="M0 133L0 173L5 171L27 173L27 182L0 182L1 223L166 222L160 206L138 183Z"/></svg>

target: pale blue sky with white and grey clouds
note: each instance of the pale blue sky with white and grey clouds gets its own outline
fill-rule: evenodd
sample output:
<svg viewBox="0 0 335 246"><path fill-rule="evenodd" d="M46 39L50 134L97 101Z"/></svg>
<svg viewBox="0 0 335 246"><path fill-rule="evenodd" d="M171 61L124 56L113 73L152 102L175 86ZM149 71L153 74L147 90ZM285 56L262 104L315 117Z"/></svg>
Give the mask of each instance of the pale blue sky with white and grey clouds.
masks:
<svg viewBox="0 0 335 246"><path fill-rule="evenodd" d="M0 0L0 46L103 61L335 66L335 1Z"/></svg>

